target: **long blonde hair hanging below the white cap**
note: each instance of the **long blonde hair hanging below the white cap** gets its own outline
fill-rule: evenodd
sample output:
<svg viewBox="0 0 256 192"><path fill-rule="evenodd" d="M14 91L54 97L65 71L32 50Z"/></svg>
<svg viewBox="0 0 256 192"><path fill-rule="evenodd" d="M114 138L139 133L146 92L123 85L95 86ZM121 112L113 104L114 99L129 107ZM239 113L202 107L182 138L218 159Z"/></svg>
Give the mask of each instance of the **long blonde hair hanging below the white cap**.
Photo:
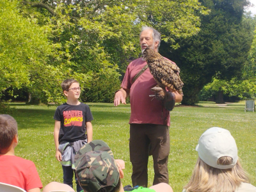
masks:
<svg viewBox="0 0 256 192"><path fill-rule="evenodd" d="M219 165L230 165L232 158L221 157ZM187 192L234 192L241 182L249 182L239 160L233 168L219 169L207 165L198 157L195 169L188 184Z"/></svg>

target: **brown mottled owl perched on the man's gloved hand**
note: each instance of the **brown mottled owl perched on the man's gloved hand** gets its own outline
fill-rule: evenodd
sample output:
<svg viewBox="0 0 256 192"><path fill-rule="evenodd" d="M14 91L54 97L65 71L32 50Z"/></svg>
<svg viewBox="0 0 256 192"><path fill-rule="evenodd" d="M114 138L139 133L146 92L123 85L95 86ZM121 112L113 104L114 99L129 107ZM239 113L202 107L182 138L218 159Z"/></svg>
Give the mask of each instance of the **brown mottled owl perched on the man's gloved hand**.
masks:
<svg viewBox="0 0 256 192"><path fill-rule="evenodd" d="M169 87L183 95L182 87L184 84L180 80L180 68L175 63L164 59L162 55L149 47L145 48L142 57L146 59L150 73L159 87L163 89Z"/></svg>

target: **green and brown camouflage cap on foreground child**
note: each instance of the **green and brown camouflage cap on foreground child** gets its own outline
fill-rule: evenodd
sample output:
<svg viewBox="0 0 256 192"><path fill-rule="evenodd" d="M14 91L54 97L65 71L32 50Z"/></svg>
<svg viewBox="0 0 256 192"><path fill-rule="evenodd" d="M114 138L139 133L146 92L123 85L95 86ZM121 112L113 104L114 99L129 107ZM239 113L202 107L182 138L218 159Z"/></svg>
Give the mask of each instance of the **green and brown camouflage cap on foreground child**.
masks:
<svg viewBox="0 0 256 192"><path fill-rule="evenodd" d="M77 179L85 191L96 192L119 181L118 166L109 146L102 140L84 145L75 156ZM108 191L106 191L108 192Z"/></svg>

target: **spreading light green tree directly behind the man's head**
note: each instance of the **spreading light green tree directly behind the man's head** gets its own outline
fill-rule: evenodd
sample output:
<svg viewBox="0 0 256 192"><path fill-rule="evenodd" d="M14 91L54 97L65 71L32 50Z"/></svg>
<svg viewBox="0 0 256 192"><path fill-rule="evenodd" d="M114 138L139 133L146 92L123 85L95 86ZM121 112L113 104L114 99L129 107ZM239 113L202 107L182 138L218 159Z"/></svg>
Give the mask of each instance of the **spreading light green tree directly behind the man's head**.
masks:
<svg viewBox="0 0 256 192"><path fill-rule="evenodd" d="M100 92L116 91L113 85L120 85L116 77L124 73L129 58L138 57L140 52L141 26L155 27L164 41L177 47L178 38L198 33L198 15L207 14L192 0L22 1L20 8L25 17L49 27L49 40L56 53L50 58L53 66L64 64L90 77L83 96L87 101L95 101L99 80L104 79ZM113 95L107 100L106 94L97 95L101 97L98 101L113 100Z"/></svg>

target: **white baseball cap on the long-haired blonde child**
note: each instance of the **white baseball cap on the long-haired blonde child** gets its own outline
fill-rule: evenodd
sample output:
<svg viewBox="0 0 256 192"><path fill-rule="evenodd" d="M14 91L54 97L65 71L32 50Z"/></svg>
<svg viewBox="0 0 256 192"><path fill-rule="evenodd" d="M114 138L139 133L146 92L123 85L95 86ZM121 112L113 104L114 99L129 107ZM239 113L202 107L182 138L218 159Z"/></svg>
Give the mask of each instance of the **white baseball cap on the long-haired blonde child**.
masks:
<svg viewBox="0 0 256 192"><path fill-rule="evenodd" d="M209 128L201 135L196 151L204 163L214 168L232 168L238 159L235 139L227 129L218 127ZM230 165L218 165L218 159L223 156L232 158L232 163Z"/></svg>

